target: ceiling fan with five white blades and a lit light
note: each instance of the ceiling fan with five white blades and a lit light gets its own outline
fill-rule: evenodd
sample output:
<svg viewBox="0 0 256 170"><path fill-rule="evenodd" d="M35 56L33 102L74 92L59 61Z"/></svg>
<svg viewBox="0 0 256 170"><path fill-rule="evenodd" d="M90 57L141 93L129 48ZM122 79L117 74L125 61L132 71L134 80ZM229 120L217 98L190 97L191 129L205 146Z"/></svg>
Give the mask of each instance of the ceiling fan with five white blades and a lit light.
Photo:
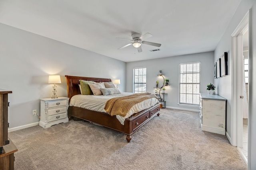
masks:
<svg viewBox="0 0 256 170"><path fill-rule="evenodd" d="M145 33L144 35L141 35L139 33L134 33L134 34L132 34L132 39L125 39L125 40L129 40L129 41L134 41L134 42L124 45L123 47L120 47L118 49L123 49L124 47L128 47L129 45L133 45L133 47L138 49L138 53L140 53L140 52L142 52L141 44L153 45L156 47L160 47L161 44L143 41L144 39L147 39L152 36L153 35L151 35L150 33ZM124 38L118 38L118 39L124 39Z"/></svg>

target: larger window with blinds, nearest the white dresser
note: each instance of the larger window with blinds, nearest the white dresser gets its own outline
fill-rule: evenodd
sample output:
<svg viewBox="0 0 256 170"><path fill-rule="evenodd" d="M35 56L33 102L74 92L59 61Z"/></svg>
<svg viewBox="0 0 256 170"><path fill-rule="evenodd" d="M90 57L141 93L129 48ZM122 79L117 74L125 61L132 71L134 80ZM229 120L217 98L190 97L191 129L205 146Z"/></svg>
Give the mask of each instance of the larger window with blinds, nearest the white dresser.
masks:
<svg viewBox="0 0 256 170"><path fill-rule="evenodd" d="M180 104L199 105L201 63L180 64Z"/></svg>

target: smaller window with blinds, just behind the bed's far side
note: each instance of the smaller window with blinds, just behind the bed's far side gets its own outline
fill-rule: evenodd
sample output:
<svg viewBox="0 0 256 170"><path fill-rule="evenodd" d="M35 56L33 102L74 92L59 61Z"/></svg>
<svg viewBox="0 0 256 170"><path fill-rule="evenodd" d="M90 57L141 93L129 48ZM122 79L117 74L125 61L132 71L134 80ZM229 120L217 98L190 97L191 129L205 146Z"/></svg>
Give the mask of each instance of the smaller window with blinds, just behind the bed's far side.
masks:
<svg viewBox="0 0 256 170"><path fill-rule="evenodd" d="M146 92L146 73L147 68L134 68L133 69L133 92L142 93Z"/></svg>

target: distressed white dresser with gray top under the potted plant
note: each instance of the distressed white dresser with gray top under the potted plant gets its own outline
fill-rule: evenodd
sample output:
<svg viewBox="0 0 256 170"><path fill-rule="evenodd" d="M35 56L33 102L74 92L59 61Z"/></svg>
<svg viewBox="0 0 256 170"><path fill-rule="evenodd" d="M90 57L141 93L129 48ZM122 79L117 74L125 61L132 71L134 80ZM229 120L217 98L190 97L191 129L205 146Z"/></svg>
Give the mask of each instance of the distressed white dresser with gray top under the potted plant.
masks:
<svg viewBox="0 0 256 170"><path fill-rule="evenodd" d="M226 135L226 99L200 93L201 130Z"/></svg>

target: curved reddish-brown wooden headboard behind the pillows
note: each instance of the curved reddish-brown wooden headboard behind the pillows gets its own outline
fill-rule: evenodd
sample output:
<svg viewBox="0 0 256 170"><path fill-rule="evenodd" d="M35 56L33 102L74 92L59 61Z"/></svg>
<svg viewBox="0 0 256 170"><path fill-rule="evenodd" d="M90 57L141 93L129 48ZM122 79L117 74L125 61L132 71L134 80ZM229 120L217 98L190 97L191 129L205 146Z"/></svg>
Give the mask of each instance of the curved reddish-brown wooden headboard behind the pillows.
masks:
<svg viewBox="0 0 256 170"><path fill-rule="evenodd" d="M112 82L110 78L94 78L94 77L78 77L78 76L65 76L67 79L68 85L68 97L69 100L72 96L81 94L78 84L79 80L87 80L87 81L94 81L94 82Z"/></svg>

